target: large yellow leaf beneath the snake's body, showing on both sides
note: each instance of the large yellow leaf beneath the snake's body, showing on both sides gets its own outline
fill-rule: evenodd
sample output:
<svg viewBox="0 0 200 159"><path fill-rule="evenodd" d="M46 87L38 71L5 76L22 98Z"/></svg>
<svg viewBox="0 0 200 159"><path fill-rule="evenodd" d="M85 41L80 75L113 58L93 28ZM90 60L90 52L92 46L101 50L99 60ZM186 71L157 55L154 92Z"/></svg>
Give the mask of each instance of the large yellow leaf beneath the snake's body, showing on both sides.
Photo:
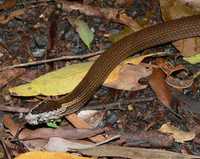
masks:
<svg viewBox="0 0 200 159"><path fill-rule="evenodd" d="M152 53L139 57L128 58L121 65L131 63L139 64L144 58L152 55L160 55L162 53ZM65 66L59 70L47 73L39 78L33 80L31 83L20 85L17 87L10 88L10 93L17 96L56 96L63 95L71 92L78 83L83 79L87 71L92 66L93 62L85 62L79 64L73 64ZM121 66L120 66L121 67ZM113 75L116 76L115 72L119 69L116 67L113 72L109 75L108 81L112 81ZM109 80L111 79L111 80Z"/></svg>

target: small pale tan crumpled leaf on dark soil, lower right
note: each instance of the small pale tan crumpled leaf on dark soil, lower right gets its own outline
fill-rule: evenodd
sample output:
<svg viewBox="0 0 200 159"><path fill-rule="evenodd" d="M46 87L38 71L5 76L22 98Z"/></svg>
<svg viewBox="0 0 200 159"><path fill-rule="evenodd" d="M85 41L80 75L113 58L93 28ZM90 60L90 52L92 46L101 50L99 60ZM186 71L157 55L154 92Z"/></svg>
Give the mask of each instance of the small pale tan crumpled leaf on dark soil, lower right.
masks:
<svg viewBox="0 0 200 159"><path fill-rule="evenodd" d="M159 131L163 133L170 133L174 137L176 142L184 143L185 141L191 141L195 138L194 132L182 131L170 123L163 124Z"/></svg>

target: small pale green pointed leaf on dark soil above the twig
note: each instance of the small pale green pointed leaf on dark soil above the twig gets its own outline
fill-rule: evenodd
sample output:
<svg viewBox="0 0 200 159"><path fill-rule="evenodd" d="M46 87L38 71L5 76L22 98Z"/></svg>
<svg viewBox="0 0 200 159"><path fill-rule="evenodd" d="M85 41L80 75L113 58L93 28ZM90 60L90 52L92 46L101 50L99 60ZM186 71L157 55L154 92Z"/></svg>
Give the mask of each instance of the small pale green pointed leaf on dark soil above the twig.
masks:
<svg viewBox="0 0 200 159"><path fill-rule="evenodd" d="M90 30L88 24L83 20L77 19L75 21L76 31L79 33L81 40L90 48L94 39L94 33Z"/></svg>

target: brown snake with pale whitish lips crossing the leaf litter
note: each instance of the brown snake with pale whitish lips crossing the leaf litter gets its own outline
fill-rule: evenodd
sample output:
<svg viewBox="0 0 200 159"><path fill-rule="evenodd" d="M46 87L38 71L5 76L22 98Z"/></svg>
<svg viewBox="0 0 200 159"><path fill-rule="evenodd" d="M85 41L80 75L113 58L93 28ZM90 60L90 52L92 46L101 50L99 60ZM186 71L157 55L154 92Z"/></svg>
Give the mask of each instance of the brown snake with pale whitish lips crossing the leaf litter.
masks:
<svg viewBox="0 0 200 159"><path fill-rule="evenodd" d="M200 36L199 15L157 24L132 33L105 51L69 95L43 105L54 106L54 110L35 114L32 111L25 119L30 124L38 124L73 113L84 106L110 72L128 56L153 46L195 36ZM42 106L38 108L40 107Z"/></svg>

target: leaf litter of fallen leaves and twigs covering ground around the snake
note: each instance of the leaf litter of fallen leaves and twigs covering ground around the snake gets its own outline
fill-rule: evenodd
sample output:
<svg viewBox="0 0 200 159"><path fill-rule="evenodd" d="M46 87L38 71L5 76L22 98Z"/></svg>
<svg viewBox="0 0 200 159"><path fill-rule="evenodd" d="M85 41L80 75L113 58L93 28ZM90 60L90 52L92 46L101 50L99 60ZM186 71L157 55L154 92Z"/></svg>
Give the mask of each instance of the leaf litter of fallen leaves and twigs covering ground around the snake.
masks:
<svg viewBox="0 0 200 159"><path fill-rule="evenodd" d="M198 10L198 5L195 8L193 5L195 2L192 1L189 2L192 8L188 8L188 2L184 0L168 2L160 1L161 16L164 17L164 20L193 15L194 10L195 12ZM110 40L115 42L128 35L129 32L141 30L144 27L161 22L157 18L160 16L160 12L158 12L158 9L160 9L159 4L155 1L136 0L130 2L124 0L119 2L117 0L116 2L93 2L86 0L84 2L69 2L58 0L52 1L52 3L56 5L52 5L47 1L5 1L0 5L0 7L5 6L3 7L3 14L0 16L0 23L4 25L0 29L0 34L4 33L2 43L8 48L6 52L1 51L0 60L6 61L3 63L0 61L1 68L16 63L21 64L29 60L37 62L46 58L49 60L49 58L57 58L63 55L82 55L83 52L93 53L97 50L107 49L110 47ZM76 26L70 22L70 19L76 19ZM112 22L110 23L107 20ZM26 22L29 27L21 22ZM23 30L24 28L26 29ZM73 151L76 149L76 153L89 156L199 158L191 155L198 155L195 146L198 146L199 140L198 116L194 115L200 110L198 108L198 90L200 86L198 84L198 55L194 55L199 52L198 42L198 38L192 38L173 43L176 49L180 51L180 54L184 56L184 60L193 58L191 59L192 61L188 61L189 63L183 61L177 52L167 55L160 54L160 56L163 56L162 58L160 56L159 58L152 56L155 52L160 52L160 50L174 52L173 46L169 45L158 49L146 50L142 55L134 57L131 61L124 62L123 69L118 69L110 79L107 79L111 83L104 85L88 103L93 106L102 106L107 103L119 104L115 109L102 107L102 109L98 110L99 116L90 116L90 118L98 120L98 124L95 125L98 128L91 129L92 126L89 125L89 122L80 119L76 114L66 116L65 119L67 121L62 120L61 123L58 123L58 128L55 129L47 128L46 125L32 127L20 121L13 121L11 117L7 117L6 121L4 116L4 126L10 130L10 138L12 140L9 141L2 135L2 141L6 143L9 149L11 148L10 145L15 141L28 148L28 142L30 145L34 145L33 141L36 142L38 138L45 139L47 142L49 138L57 136L60 138L54 138L54 144L67 138L70 140L68 147L78 145L76 148L71 147L71 149ZM44 54L35 56L34 53L40 52L39 50L44 50ZM160 59L164 61L161 62L162 65L158 62ZM80 63L82 61L84 63ZM3 84L0 98L2 106L4 108L7 105L13 108L16 106L16 109L19 106L24 106L28 110L36 103L47 100L48 97L44 96L69 93L81 81L83 75L93 63L88 61L90 59L69 61L67 63L70 65L66 66L68 70L64 70L63 73L48 73L31 83L19 87L13 86L26 83L23 77L21 79L18 78L21 73L12 77L4 76L6 80ZM83 67L86 64L89 65ZM25 71L23 70L22 74L24 77L29 76L30 79L33 79L33 77L38 76L36 75L38 72L41 75L65 65L66 62L63 59L59 62L51 62L45 65L41 63L40 65L23 68ZM76 68L76 66L79 67ZM119 65L119 67L121 66ZM38 71L27 76L27 72L32 72L36 69ZM58 69L57 72L62 69L64 68ZM16 70L19 69L16 68ZM12 74L12 71L15 70L4 70L5 73L9 73L9 71ZM121 72L122 74L120 75ZM124 72L126 73L124 74ZM56 75L49 77L49 74L54 73ZM75 76L79 79L75 80ZM68 78L67 81L66 78ZM4 79L0 76L0 81L2 80ZM29 81L27 78L25 80ZM40 82L35 82L37 80ZM105 86L111 88L105 88ZM29 97L14 97L8 93L8 88L14 95ZM142 100L141 97L143 99L153 98L154 100ZM51 99L55 98L57 97L52 97ZM132 100L133 98L141 100L135 102ZM123 103L123 101L128 102L123 104L123 109L121 109L122 105L120 103ZM9 109L7 110L9 111ZM14 109L12 109L12 112L14 112ZM172 126L168 126L168 131L159 132L159 127L169 121L174 125L173 131L169 131ZM120 133L120 139L104 143L113 136L118 135L119 132L123 132ZM86 140L80 141L80 139L85 138ZM76 141L71 141L71 139L76 139ZM155 139L157 142L153 141ZM27 140L27 142L24 140ZM97 146L98 143L102 142L104 145ZM39 145L39 140L36 143L38 144L35 145ZM43 145L45 142L41 143ZM113 144L117 146L113 146ZM16 146L16 144L14 145ZM92 145L92 147L80 150L80 147L83 148L88 145ZM174 145L178 146L175 147ZM132 146L137 146L138 148L132 148ZM175 153L183 152L182 146L190 150L187 151L188 154ZM20 148L22 148L20 145L17 145L16 149L12 148L12 154L18 156L21 153L19 151ZM53 146L50 146L50 148L53 148ZM159 150L160 148L169 148L171 151ZM31 150L37 150L37 148L32 148ZM7 154L9 155L9 153ZM55 158L55 156L56 158L83 158L66 152L52 153L47 152L47 150L24 153L17 158Z"/></svg>

